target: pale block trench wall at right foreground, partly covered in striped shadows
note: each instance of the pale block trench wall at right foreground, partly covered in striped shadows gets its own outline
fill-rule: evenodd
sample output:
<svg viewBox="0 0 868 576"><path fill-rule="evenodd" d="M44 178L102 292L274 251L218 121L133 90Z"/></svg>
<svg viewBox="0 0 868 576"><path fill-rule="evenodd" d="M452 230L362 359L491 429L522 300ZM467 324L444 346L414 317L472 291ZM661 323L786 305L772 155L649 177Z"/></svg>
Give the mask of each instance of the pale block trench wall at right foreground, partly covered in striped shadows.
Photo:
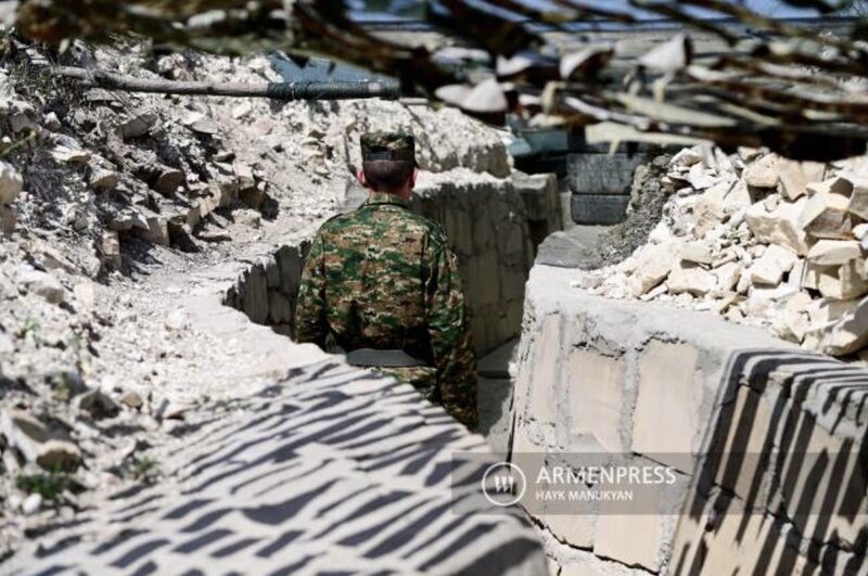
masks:
<svg viewBox="0 0 868 576"><path fill-rule="evenodd" d="M523 500L553 572L868 573L868 371L710 315L590 296L571 276L531 274L513 462L622 453L677 483L653 514Z"/></svg>

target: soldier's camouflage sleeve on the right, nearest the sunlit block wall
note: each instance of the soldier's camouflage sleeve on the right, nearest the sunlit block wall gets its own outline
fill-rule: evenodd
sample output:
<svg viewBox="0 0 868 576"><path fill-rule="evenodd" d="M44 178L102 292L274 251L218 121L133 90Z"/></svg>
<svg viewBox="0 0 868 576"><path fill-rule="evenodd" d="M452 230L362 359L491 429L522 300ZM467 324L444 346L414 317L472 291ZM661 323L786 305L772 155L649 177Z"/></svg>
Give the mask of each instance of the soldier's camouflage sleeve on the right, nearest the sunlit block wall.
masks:
<svg viewBox="0 0 868 576"><path fill-rule="evenodd" d="M456 420L475 428L476 358L458 265L445 243L433 245L430 256L427 327L443 406Z"/></svg>

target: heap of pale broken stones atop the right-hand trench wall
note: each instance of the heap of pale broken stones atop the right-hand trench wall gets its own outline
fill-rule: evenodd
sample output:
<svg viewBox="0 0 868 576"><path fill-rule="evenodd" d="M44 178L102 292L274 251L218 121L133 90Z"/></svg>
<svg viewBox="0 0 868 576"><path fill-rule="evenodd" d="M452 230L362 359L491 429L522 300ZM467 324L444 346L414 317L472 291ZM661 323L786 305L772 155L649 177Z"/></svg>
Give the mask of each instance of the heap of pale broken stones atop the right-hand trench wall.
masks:
<svg viewBox="0 0 868 576"><path fill-rule="evenodd" d="M762 150L675 155L649 242L574 284L769 328L838 357L868 346L868 158L794 162Z"/></svg>

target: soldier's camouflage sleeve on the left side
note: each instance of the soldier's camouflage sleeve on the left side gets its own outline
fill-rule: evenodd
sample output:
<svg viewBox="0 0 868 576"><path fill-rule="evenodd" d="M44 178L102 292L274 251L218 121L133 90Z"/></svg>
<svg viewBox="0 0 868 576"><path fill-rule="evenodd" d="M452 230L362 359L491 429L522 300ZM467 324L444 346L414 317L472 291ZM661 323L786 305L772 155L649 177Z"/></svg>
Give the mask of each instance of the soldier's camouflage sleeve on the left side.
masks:
<svg viewBox="0 0 868 576"><path fill-rule="evenodd" d="M326 269L322 234L317 234L302 269L298 300L295 306L295 342L326 345Z"/></svg>

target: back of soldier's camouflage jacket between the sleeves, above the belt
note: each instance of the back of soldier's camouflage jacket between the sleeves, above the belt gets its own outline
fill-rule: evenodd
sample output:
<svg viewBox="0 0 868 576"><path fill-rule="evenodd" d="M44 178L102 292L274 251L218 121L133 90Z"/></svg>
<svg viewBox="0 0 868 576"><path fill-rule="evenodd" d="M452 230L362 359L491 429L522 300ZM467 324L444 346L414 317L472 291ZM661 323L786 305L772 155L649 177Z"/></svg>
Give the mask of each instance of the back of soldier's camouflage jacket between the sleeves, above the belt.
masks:
<svg viewBox="0 0 868 576"><path fill-rule="evenodd" d="M430 257L443 249L441 227L388 194L372 194L319 232L326 313L344 349L404 349L427 358Z"/></svg>

